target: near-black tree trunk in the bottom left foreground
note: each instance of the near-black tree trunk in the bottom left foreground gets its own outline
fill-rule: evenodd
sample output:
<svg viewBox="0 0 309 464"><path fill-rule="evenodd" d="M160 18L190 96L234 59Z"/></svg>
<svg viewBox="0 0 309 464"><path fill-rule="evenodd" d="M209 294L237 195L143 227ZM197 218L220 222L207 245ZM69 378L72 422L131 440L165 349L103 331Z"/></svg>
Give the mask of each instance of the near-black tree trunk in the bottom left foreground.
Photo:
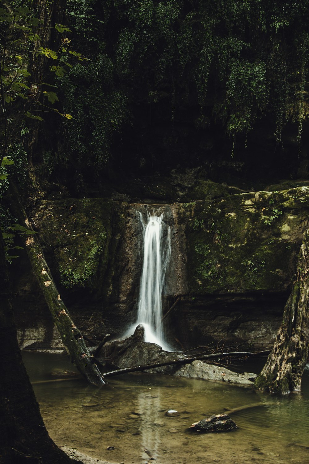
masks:
<svg viewBox="0 0 309 464"><path fill-rule="evenodd" d="M17 343L0 233L0 463L71 462L51 440Z"/></svg>

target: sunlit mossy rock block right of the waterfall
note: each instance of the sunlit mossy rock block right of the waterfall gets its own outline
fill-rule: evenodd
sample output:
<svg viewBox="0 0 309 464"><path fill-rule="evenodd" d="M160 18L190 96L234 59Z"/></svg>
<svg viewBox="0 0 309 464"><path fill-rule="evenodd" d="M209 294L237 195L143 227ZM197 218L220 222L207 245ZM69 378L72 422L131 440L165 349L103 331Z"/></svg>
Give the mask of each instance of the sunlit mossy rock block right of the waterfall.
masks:
<svg viewBox="0 0 309 464"><path fill-rule="evenodd" d="M309 223L309 187L180 206L193 295L282 291Z"/></svg>

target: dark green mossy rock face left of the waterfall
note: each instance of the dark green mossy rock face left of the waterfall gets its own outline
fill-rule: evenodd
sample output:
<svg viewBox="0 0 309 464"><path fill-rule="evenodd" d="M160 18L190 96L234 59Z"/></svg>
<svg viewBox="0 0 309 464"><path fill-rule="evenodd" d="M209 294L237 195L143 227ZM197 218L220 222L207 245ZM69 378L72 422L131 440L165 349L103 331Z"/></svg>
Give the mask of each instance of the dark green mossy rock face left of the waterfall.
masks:
<svg viewBox="0 0 309 464"><path fill-rule="evenodd" d="M34 223L54 277L61 285L88 289L103 285L114 256L114 241L120 236L119 231L112 234L112 222L114 228L121 222L118 216L112 200L40 202L33 212Z"/></svg>

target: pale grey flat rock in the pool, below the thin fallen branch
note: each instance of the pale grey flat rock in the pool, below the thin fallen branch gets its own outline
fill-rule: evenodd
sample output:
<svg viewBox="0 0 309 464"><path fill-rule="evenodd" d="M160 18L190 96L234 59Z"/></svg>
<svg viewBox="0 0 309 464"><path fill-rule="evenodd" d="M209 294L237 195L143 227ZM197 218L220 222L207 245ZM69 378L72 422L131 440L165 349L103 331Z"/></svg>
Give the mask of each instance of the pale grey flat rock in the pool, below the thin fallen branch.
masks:
<svg viewBox="0 0 309 464"><path fill-rule="evenodd" d="M208 364L203 361L193 361L186 364L174 373L182 377L191 377L193 379L220 380L228 383L238 383L241 385L253 385L256 374L245 372L238 374L229 369L214 364Z"/></svg>

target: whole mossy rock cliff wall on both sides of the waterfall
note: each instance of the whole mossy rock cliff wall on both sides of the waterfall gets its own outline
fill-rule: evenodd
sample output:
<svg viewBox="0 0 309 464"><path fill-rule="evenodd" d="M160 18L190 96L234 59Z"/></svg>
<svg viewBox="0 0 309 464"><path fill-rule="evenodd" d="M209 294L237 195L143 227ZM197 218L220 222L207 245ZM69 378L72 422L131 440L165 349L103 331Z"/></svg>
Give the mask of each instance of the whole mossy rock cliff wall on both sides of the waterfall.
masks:
<svg viewBox="0 0 309 464"><path fill-rule="evenodd" d="M209 184L197 187L194 201L156 205L171 228L165 312L177 304L165 320L170 341L178 349L218 342L269 348L308 228L309 187L230 194L217 185L215 195ZM44 200L32 212L61 296L89 339L121 335L135 321L143 254L138 211L145 205L91 198ZM59 347L26 266L15 275L20 344Z"/></svg>

